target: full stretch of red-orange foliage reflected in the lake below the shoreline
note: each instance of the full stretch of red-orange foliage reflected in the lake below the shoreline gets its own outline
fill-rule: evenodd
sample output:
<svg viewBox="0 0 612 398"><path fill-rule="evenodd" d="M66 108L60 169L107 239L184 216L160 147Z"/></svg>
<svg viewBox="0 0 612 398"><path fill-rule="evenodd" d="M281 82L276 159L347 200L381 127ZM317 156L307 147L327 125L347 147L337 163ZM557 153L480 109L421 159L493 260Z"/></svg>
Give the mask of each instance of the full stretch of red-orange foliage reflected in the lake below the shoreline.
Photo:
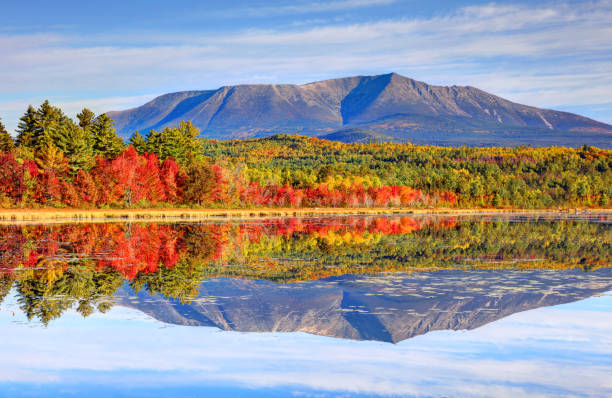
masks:
<svg viewBox="0 0 612 398"><path fill-rule="evenodd" d="M132 280L138 273L151 273L160 266L174 267L186 255L206 252L207 259L219 261L227 250L248 242L273 236L323 237L330 233L365 235L409 234L432 221L399 218L283 218L192 225L163 224L83 224L34 227L5 226L0 228L0 272L15 268L36 268L44 260L53 260L54 267L67 267L75 260L93 261L98 271L112 268ZM433 226L450 228L454 221L436 221ZM187 232L189 230L189 232ZM207 236L205 245L192 247L188 253L187 233Z"/></svg>

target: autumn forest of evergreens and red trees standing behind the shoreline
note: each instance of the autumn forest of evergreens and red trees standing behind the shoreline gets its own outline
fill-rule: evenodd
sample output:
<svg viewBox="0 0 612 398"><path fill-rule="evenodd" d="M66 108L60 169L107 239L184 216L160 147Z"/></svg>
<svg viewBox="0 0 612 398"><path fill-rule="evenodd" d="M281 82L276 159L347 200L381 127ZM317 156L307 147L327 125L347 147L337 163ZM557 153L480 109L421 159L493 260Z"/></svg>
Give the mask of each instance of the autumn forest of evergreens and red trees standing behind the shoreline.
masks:
<svg viewBox="0 0 612 398"><path fill-rule="evenodd" d="M0 208L601 208L612 151L345 144L297 135L217 141L190 122L138 131L45 101L15 139L0 121Z"/></svg>

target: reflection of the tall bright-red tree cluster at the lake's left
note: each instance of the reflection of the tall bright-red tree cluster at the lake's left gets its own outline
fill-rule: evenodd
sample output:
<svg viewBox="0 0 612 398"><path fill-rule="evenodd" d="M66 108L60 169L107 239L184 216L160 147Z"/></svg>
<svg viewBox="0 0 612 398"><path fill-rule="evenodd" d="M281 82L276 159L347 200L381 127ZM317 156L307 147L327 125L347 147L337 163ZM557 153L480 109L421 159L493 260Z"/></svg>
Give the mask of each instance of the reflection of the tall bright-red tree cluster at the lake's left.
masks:
<svg viewBox="0 0 612 398"><path fill-rule="evenodd" d="M0 269L35 268L43 259L67 266L93 260L98 270L111 267L126 279L139 272L174 267L181 258L181 230L169 225L87 224L3 228ZM7 230L10 230L7 231Z"/></svg>

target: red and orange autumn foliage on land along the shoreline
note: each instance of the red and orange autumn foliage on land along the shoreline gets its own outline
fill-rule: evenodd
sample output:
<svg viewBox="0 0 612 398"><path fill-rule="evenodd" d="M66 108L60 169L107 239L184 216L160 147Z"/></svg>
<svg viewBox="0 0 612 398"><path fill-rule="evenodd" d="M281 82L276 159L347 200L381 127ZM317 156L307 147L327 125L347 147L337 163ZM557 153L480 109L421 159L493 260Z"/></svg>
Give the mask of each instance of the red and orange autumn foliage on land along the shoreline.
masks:
<svg viewBox="0 0 612 398"><path fill-rule="evenodd" d="M167 204L265 207L410 206L444 202L452 193L425 195L407 186L363 183L311 187L249 182L209 162L179 166L172 158L138 154L129 146L114 159L98 156L89 170L68 173L65 164L41 169L13 154L0 155L0 198L4 206L103 207Z"/></svg>

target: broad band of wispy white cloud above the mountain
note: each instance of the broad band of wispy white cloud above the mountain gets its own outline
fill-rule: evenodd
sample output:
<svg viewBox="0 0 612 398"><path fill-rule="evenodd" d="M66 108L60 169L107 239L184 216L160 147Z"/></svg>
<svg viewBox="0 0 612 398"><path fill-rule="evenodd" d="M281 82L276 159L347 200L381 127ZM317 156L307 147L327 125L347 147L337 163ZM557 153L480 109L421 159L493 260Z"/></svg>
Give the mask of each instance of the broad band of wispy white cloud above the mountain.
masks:
<svg viewBox="0 0 612 398"><path fill-rule="evenodd" d="M371 4L298 3L277 12ZM127 31L42 37L0 32L0 101L8 96L17 101L24 98L23 92L40 92L40 100L49 97L48 92L73 92L70 102L78 102L91 97L83 92L109 98L132 93L128 95L132 97L244 82L306 83L396 71L434 84L470 84L534 106L609 103L610 20L612 1L604 0L530 6L492 3L432 18L398 16L224 35ZM126 101L108 106L118 109ZM14 128L18 116L1 102L0 116Z"/></svg>

